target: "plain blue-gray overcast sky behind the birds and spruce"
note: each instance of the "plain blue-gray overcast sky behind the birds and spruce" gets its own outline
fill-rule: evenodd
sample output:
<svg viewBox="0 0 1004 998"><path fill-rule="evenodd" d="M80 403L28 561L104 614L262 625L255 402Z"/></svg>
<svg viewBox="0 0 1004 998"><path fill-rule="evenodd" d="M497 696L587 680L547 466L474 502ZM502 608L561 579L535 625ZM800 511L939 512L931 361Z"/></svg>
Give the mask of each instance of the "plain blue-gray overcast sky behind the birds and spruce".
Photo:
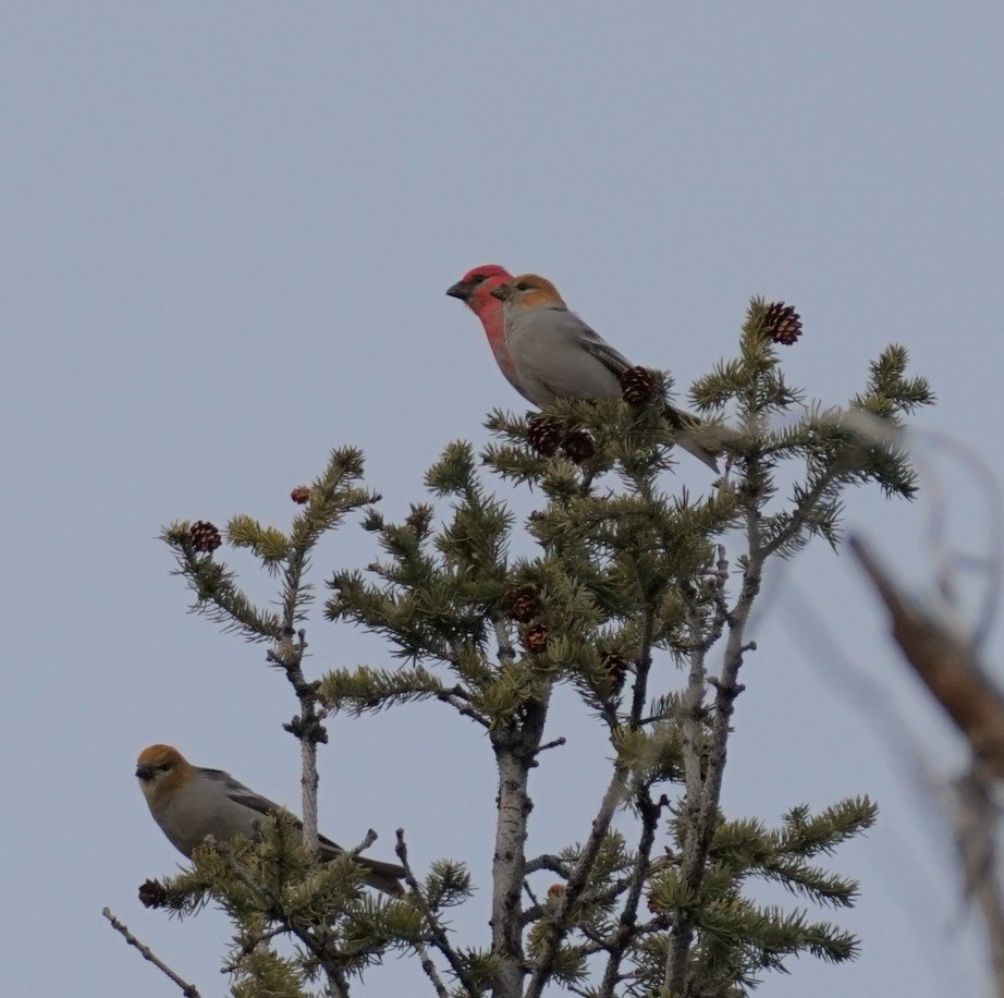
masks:
<svg viewBox="0 0 1004 998"><path fill-rule="evenodd" d="M180 857L134 759L172 742L298 806L280 728L294 705L261 648L185 614L155 536L235 512L282 526L290 488L340 443L365 448L390 515L423 498L449 440L482 443L483 414L519 406L443 294L469 267L547 273L682 387L734 350L754 293L799 309L788 372L828 402L904 342L940 398L920 424L999 468L1002 28L991 3L8 0L0 991L176 995L108 928L106 904L204 995L225 991L225 921L136 900ZM710 476L685 455L679 480ZM943 465L939 480L953 531L980 545L972 479ZM848 522L919 585L926 512L860 495ZM365 565L371 541L348 524L317 581ZM879 684L879 713L796 594ZM309 636L315 673L389 662L348 628ZM760 993L984 994L950 841L883 713L940 775L960 756L854 565L820 548L775 573L755 636L727 811L773 823L866 792L882 806L833 864L862 881L836 915L860 960L804 960ZM534 775L534 849L585 835L600 794L589 765L604 748L571 696L551 732L571 744ZM486 938L487 741L431 706L330 733L322 827L351 844L374 826L372 854L391 857L403 825L419 865L467 859L485 888L464 933ZM394 958L366 989L427 993Z"/></svg>

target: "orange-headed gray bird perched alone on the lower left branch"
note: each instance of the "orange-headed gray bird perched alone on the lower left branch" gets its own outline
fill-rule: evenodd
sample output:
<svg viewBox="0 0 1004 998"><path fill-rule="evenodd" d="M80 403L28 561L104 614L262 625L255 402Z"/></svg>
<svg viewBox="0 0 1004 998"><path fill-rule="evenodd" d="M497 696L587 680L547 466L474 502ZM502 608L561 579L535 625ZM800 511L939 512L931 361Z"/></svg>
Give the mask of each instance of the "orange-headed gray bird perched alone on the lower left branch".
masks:
<svg viewBox="0 0 1004 998"><path fill-rule="evenodd" d="M136 760L136 776L154 820L188 859L207 836L218 842L236 836L252 839L266 814L285 810L220 769L193 766L171 745L144 748ZM345 851L323 836L319 844L322 860L333 860ZM404 893L399 883L404 867L365 856L355 856L355 862L368 871L366 883L370 887L388 894Z"/></svg>

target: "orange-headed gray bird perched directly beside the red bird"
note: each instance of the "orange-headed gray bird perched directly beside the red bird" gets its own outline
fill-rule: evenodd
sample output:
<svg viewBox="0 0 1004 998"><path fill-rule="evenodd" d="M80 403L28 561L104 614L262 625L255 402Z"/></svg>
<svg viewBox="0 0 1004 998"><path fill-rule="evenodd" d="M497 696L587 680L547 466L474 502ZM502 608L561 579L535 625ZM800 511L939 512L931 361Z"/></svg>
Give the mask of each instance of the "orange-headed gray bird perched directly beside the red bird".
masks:
<svg viewBox="0 0 1004 998"><path fill-rule="evenodd" d="M634 365L570 312L547 278L523 273L489 294L502 302L505 345L530 402L543 409L555 399L621 397L620 377ZM676 442L718 471L714 454L693 436L700 419L669 404L665 415L681 431Z"/></svg>

